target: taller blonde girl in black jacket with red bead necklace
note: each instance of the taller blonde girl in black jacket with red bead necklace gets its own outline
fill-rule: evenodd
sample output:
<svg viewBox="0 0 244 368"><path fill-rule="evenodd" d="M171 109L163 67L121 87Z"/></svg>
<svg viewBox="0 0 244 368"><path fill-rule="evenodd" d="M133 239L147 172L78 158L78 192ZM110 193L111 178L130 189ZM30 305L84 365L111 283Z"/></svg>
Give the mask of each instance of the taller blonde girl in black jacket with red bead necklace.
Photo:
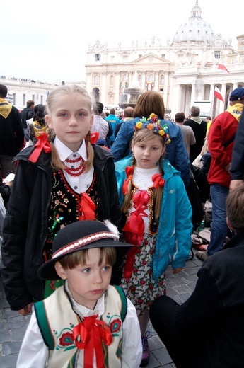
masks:
<svg viewBox="0 0 244 368"><path fill-rule="evenodd" d="M46 132L36 135L37 144L16 156L1 246L6 298L23 315L30 313L33 300L56 288L54 282L44 285L37 269L50 259L59 229L83 219L121 224L113 156L95 144L97 134L90 134L93 115L86 90L73 85L52 91L46 122ZM117 264L114 284L120 284Z"/></svg>

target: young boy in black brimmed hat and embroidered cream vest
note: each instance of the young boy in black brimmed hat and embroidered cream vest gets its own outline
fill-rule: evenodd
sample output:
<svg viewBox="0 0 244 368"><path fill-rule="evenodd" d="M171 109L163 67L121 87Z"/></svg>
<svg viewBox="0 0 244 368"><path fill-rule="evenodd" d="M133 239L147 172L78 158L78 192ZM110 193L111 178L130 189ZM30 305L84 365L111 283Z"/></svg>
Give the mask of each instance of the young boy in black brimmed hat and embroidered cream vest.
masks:
<svg viewBox="0 0 244 368"><path fill-rule="evenodd" d="M17 367L138 368L141 335L136 310L110 285L118 241L110 222L84 220L61 229L42 280L65 280L34 304Z"/></svg>

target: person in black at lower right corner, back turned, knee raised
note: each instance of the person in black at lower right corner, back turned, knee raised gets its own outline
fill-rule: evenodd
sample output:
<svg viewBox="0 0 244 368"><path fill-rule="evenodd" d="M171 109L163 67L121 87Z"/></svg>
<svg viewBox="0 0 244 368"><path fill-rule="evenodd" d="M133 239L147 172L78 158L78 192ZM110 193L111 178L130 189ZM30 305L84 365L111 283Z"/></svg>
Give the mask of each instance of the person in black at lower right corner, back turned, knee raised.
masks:
<svg viewBox="0 0 244 368"><path fill-rule="evenodd" d="M159 297L151 306L151 323L177 368L243 368L243 184L229 193L226 212L236 235L204 260L191 297L182 305Z"/></svg>

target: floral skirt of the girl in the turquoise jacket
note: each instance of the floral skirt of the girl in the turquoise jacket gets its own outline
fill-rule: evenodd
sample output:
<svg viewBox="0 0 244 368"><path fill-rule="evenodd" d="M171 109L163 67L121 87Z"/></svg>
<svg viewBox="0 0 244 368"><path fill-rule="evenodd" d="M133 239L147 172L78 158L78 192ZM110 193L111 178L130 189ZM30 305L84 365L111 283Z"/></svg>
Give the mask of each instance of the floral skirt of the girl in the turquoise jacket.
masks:
<svg viewBox="0 0 244 368"><path fill-rule="evenodd" d="M152 278L151 262L155 244L156 235L144 234L144 241L136 250L132 278L122 279L124 292L134 304L138 316L143 316L156 298L166 294L165 275L159 277L158 284Z"/></svg>

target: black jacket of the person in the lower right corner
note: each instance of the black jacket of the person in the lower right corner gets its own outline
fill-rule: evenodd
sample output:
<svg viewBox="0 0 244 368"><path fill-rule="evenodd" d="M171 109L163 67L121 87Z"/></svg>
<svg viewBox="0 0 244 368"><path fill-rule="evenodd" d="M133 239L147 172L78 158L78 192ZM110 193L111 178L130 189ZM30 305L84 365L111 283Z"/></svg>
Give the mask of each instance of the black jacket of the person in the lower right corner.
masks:
<svg viewBox="0 0 244 368"><path fill-rule="evenodd" d="M204 260L194 292L176 314L183 339L196 347L194 367L243 368L244 232Z"/></svg>

